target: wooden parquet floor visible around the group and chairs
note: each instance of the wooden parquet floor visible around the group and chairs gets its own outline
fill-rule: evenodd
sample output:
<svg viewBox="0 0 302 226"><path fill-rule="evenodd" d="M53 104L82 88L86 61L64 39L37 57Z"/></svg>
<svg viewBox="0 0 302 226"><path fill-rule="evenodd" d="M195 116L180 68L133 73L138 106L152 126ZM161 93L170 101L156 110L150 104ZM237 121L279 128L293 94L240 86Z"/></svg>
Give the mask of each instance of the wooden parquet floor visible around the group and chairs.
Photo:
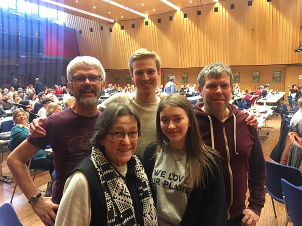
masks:
<svg viewBox="0 0 302 226"><path fill-rule="evenodd" d="M269 132L269 138L262 143L264 157L267 160L271 160L269 158L269 155L279 139L280 121L280 116L276 117L276 115L273 115L273 117L271 117L271 120L267 122L267 126L274 127L274 129L262 129L260 131L260 135L266 135L266 133ZM5 153L3 161L3 173L4 175L10 176L12 178L12 173L6 165L7 156L8 154ZM48 172L42 172L36 175L35 183L39 187L39 189L46 190L47 182L49 180L50 176ZM0 181L0 205L5 202L10 202L14 186L14 183L10 184ZM20 218L20 221L23 223L24 226L43 225L39 217L33 212L31 205L28 203L27 199L25 198L18 186L12 205L15 208ZM257 222L257 226L281 226L284 224L286 214L283 204L275 201L275 207L277 211L276 218L274 217L271 198L268 194L266 194L266 203L264 205L264 208L262 209L261 217L260 220ZM288 225L292 226L293 224L289 223Z"/></svg>

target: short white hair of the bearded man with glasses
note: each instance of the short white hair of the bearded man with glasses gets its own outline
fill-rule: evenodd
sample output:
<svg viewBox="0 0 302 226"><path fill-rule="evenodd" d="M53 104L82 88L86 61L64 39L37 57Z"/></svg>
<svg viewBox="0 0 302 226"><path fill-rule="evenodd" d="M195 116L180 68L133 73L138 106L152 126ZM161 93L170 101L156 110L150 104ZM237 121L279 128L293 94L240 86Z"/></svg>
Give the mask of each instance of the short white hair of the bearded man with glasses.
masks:
<svg viewBox="0 0 302 226"><path fill-rule="evenodd" d="M101 62L97 58L91 56L78 56L71 60L67 66L66 74L68 82L71 81L72 72L78 67L97 69L100 73L99 75L101 75L102 80L105 81L106 79L105 70Z"/></svg>

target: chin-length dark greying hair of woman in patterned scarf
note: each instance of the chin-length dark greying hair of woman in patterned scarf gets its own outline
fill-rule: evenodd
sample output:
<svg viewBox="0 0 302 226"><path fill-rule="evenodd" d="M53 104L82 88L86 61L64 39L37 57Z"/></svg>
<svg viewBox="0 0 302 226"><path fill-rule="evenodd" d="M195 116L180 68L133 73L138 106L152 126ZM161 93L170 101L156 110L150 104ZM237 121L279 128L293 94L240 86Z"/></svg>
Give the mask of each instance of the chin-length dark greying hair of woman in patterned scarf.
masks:
<svg viewBox="0 0 302 226"><path fill-rule="evenodd" d="M104 151L104 147L101 146L99 140L105 138L106 134L113 127L119 116L133 116L137 122L137 131L140 132L139 117L131 106L124 103L110 103L103 111L94 128L91 143L95 148Z"/></svg>

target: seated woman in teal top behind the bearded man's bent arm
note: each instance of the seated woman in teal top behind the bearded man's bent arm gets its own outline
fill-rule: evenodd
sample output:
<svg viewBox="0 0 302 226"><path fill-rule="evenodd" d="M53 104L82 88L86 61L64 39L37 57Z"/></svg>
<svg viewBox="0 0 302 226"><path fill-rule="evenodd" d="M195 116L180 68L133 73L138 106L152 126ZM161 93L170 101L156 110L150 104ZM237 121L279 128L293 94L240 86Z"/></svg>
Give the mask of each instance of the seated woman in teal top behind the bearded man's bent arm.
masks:
<svg viewBox="0 0 302 226"><path fill-rule="evenodd" d="M25 139L28 138L28 114L22 108L17 108L13 114L15 126L11 131L11 140L14 148L18 147ZM24 150L26 151L26 150ZM27 163L28 164L28 163ZM53 156L40 150L33 158L30 164L30 169L45 169L49 170L51 176L54 171Z"/></svg>

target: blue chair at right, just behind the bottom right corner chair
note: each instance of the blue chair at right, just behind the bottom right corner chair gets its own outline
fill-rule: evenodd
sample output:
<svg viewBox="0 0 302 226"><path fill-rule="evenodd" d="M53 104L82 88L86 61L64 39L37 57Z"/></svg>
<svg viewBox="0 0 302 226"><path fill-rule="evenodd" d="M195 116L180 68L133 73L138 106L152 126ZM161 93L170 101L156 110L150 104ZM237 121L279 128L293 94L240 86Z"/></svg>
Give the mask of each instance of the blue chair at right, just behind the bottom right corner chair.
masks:
<svg viewBox="0 0 302 226"><path fill-rule="evenodd" d="M267 173L265 188L271 196L274 214L275 217L277 217L274 199L280 203L284 203L281 179L283 178L296 186L301 186L302 176L301 172L297 168L269 162L267 160L265 160L265 163Z"/></svg>

